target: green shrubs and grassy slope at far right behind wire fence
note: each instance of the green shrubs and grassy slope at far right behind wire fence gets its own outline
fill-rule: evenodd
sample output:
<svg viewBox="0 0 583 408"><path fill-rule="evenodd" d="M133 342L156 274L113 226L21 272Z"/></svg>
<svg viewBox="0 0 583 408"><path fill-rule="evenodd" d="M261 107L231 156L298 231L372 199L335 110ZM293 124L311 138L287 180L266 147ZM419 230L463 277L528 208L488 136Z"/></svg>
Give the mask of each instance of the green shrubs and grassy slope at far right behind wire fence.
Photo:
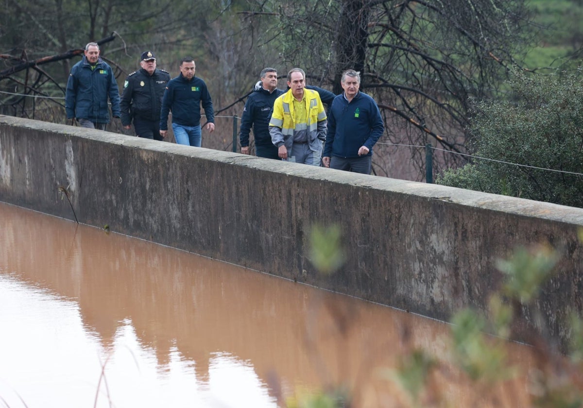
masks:
<svg viewBox="0 0 583 408"><path fill-rule="evenodd" d="M439 184L583 207L581 3L531 3L542 30L529 70L512 71L497 99L477 101L466 145L474 157Z"/></svg>

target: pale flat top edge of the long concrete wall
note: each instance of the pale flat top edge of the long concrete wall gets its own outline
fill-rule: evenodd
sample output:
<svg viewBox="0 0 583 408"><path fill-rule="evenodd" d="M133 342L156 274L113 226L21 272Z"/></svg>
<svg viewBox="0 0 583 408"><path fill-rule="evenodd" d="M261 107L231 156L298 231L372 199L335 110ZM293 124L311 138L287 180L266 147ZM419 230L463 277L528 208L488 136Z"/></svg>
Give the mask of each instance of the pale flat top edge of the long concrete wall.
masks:
<svg viewBox="0 0 583 408"><path fill-rule="evenodd" d="M78 126L54 124L34 119L17 118L0 115L1 126L15 126L34 131L58 133L77 138L86 138L104 143L114 143L134 149L147 149L153 152L178 154L196 160L210 160L234 166L255 168L285 175L286 177L309 178L336 184L352 185L356 188L375 189L393 194L416 196L421 199L436 200L451 205L469 206L475 209L504 212L518 216L538 217L540 219L583 227L583 209L553 203L532 201L511 196L489 194L468 189L448 187L424 182L398 180L395 178L363 175L323 167L305 166L297 163L282 163L261 157L248 156L222 150L205 149L177 145L176 143L158 142L156 140L136 138L96 129ZM0 145L0 152L2 146Z"/></svg>

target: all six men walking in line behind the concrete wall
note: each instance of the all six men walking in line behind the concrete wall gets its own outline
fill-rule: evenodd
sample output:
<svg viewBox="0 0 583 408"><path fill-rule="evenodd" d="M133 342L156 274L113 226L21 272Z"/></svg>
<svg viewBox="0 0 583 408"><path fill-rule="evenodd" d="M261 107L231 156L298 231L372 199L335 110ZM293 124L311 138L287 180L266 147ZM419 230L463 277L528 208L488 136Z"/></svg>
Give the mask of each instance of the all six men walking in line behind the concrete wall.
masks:
<svg viewBox="0 0 583 408"><path fill-rule="evenodd" d="M125 80L120 99L113 72L100 58L99 45L87 44L67 83L67 118L104 130L110 120L109 99L114 118L121 118L124 128L130 129L133 121L136 135L163 140L171 111L176 142L200 147L201 105L206 129L213 132L215 124L212 99L206 83L195 76L194 59L183 58L180 75L174 79L156 68L151 51L143 52L140 66ZM278 89L275 68L265 68L260 76L241 118L241 153L251 153L252 129L259 157L371 173L373 146L384 124L377 103L359 90L359 72L343 73L340 95L307 85L300 68L287 74L287 91Z"/></svg>

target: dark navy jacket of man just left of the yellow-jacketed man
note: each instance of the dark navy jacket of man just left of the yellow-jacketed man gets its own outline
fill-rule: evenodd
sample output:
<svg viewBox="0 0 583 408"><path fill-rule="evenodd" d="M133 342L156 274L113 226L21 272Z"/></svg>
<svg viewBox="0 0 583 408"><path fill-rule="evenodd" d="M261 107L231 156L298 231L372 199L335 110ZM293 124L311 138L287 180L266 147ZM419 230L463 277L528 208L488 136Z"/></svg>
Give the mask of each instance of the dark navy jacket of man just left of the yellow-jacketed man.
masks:
<svg viewBox="0 0 583 408"><path fill-rule="evenodd" d="M239 140L241 147L249 146L249 132L253 125L253 135L255 145L273 146L271 135L269 134L269 119L273 112L273 102L284 93L281 89L275 89L272 93L263 89L261 85L255 89L245 103L243 116L241 117L241 131Z"/></svg>

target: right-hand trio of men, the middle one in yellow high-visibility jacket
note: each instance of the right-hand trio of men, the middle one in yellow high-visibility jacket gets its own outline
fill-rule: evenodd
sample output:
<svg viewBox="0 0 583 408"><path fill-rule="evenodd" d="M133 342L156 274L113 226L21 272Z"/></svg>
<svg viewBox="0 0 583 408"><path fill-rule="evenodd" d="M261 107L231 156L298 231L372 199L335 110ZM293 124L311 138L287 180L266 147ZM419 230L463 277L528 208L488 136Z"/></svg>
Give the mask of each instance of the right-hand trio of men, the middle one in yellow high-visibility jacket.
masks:
<svg viewBox="0 0 583 408"><path fill-rule="evenodd" d="M287 92L277 89L277 78L275 68L261 71L261 87L245 103L241 153L250 154L252 127L257 156L370 174L384 124L377 103L359 90L360 73L342 74L338 96L306 85L300 68L287 73Z"/></svg>

